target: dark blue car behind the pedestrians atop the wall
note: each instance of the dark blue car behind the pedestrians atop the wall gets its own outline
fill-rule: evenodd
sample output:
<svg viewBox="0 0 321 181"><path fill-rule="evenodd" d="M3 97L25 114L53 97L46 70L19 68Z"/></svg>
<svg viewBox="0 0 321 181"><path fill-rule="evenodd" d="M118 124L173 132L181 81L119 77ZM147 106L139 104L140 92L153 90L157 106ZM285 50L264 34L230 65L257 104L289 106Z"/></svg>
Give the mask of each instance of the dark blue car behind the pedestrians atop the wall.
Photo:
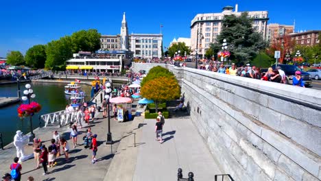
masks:
<svg viewBox="0 0 321 181"><path fill-rule="evenodd" d="M296 65L292 65L292 64L278 64L278 66L281 67L281 70L284 71L286 77L287 77L287 84L292 84L292 80L294 75L296 74L296 71L300 71L301 72L301 77L302 80L305 82L305 86L309 86L312 83L311 80L311 75L309 75L309 73L303 71L302 69L299 69ZM275 64L272 65L272 69L274 70Z"/></svg>

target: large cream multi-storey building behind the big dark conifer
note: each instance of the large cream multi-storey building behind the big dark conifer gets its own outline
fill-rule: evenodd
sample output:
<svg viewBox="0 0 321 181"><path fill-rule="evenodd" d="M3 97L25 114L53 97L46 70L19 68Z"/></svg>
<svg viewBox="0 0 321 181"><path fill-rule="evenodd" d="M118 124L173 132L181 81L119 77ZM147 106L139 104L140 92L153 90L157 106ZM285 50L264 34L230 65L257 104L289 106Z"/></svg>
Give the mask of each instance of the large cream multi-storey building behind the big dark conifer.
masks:
<svg viewBox="0 0 321 181"><path fill-rule="evenodd" d="M193 55L196 53L196 38L198 32L202 33L204 37L198 40L198 53L204 55L206 50L209 49L209 45L216 42L217 35L222 31L222 20L224 16L231 14L235 14L235 16L241 15L242 12L238 12L238 5L235 5L234 12L233 9L234 7L232 6L226 6L223 8L223 12L196 14L191 21L191 53ZM255 31L261 33L263 38L265 38L269 20L268 11L250 11L248 12L248 16L253 19L253 28Z"/></svg>

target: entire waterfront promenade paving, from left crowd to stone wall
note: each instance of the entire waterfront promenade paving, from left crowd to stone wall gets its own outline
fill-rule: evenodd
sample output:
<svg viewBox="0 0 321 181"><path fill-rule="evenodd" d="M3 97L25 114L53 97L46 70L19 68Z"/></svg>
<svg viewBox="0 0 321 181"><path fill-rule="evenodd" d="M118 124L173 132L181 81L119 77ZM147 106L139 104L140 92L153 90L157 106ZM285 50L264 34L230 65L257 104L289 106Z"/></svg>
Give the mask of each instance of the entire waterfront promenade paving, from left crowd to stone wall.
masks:
<svg viewBox="0 0 321 181"><path fill-rule="evenodd" d="M99 95L96 98L100 103ZM115 141L111 153L110 145L105 144L107 119L102 119L102 112L96 115L98 119L89 125L92 132L98 134L95 164L91 163L90 149L84 149L82 145L73 148L69 128L58 128L56 125L38 128L35 134L46 146L54 130L68 138L70 161L66 162L64 156L60 156L58 165L49 168L49 175L43 176L43 168L35 169L34 160L27 160L22 163L21 180L27 180L28 176L33 176L35 180L176 180L179 167L183 169L184 177L193 171L195 180L213 180L215 174L221 173L189 116L166 119L163 144L155 141L154 119L141 116L124 123L111 119L112 138ZM80 130L78 143L82 143L85 131L86 128ZM32 146L26 146L25 152L32 154ZM0 151L1 174L10 173L14 156L16 149L12 144Z"/></svg>

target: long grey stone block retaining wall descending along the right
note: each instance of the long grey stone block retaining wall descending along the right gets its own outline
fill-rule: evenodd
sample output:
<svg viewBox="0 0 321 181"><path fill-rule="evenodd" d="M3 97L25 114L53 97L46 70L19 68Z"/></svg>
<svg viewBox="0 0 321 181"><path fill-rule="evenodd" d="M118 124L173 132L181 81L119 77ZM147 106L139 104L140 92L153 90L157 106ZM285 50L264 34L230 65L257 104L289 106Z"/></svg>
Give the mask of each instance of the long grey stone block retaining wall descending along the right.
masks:
<svg viewBox="0 0 321 181"><path fill-rule="evenodd" d="M211 153L235 180L321 179L319 90L167 65Z"/></svg>

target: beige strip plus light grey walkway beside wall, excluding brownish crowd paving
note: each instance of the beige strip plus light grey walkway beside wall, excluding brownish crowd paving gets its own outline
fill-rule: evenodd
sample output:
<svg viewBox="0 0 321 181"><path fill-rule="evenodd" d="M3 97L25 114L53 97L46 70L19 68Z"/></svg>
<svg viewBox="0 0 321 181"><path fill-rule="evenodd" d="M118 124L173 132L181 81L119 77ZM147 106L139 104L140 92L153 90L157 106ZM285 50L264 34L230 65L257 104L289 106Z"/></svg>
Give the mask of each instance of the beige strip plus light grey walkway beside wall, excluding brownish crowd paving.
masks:
<svg viewBox="0 0 321 181"><path fill-rule="evenodd" d="M104 181L176 180L182 168L195 180L213 180L222 173L189 117L166 119L164 143L155 140L155 120L135 117L112 159ZM136 133L136 147L132 133Z"/></svg>

